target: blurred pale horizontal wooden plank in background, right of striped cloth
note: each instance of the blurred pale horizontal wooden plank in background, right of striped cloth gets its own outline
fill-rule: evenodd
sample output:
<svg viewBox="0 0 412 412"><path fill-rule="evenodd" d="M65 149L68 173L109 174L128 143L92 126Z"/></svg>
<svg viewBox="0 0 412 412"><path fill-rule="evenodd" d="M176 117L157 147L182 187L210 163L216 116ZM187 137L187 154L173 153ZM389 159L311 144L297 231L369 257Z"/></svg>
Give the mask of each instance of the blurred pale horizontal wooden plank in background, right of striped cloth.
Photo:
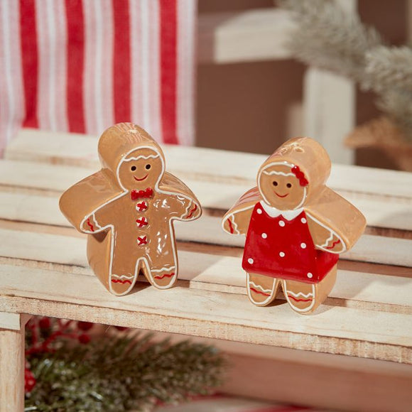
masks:
<svg viewBox="0 0 412 412"><path fill-rule="evenodd" d="M285 43L292 27L288 13L275 8L202 13L198 19L198 62L239 63L290 58Z"/></svg>

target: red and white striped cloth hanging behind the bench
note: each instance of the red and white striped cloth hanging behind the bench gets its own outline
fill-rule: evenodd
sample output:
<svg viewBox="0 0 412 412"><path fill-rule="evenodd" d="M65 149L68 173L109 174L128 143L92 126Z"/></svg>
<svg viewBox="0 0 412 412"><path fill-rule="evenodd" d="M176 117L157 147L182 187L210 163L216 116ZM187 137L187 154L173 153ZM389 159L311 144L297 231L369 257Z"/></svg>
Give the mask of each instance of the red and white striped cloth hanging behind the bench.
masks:
<svg viewBox="0 0 412 412"><path fill-rule="evenodd" d="M0 152L20 126L193 143L196 0L1 0Z"/></svg>

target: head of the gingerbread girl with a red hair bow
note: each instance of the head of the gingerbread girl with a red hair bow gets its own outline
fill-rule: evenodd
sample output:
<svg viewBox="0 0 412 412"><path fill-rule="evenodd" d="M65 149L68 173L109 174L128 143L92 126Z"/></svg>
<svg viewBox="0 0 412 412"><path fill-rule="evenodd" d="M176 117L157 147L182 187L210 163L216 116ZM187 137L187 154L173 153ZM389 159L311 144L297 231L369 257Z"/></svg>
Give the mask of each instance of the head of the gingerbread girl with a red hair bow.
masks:
<svg viewBox="0 0 412 412"><path fill-rule="evenodd" d="M309 138L291 139L259 169L257 186L267 205L296 210L308 202L330 174L330 158L320 144Z"/></svg>

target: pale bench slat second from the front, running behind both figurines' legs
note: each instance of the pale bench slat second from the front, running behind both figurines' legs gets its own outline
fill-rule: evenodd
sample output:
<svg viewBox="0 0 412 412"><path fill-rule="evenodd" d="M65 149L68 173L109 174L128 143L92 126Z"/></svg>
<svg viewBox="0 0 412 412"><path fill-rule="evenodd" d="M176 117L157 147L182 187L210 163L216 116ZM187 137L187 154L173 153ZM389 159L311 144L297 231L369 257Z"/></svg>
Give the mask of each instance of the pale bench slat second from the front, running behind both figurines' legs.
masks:
<svg viewBox="0 0 412 412"><path fill-rule="evenodd" d="M0 256L76 266L67 267L67 275L92 274L84 238L10 229L0 229L0 237L7 240L0 244ZM179 266L179 278L189 281L191 288L246 294L240 256L180 250ZM412 269L409 277L339 270L326 304L412 314L411 296Z"/></svg>

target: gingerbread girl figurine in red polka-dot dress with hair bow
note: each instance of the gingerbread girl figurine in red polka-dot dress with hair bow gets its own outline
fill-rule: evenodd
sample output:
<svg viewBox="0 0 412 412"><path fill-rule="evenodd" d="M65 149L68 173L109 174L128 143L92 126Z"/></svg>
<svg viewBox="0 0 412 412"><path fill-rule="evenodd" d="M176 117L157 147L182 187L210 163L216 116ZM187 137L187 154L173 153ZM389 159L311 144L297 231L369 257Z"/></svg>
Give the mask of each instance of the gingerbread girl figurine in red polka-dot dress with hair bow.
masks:
<svg viewBox="0 0 412 412"><path fill-rule="evenodd" d="M291 139L259 168L257 187L224 215L224 231L246 235L242 267L255 305L269 305L281 286L291 308L308 314L332 290L339 254L357 242L366 220L325 186L330 168L317 141Z"/></svg>

